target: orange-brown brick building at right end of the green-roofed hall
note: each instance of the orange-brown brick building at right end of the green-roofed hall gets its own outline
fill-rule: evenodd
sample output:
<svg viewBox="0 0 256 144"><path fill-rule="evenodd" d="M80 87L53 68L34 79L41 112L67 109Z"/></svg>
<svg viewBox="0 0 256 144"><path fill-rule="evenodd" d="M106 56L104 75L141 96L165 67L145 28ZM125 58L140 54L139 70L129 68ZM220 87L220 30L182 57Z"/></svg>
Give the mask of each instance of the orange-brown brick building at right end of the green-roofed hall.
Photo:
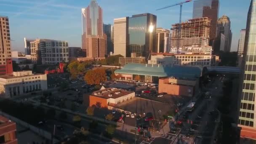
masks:
<svg viewBox="0 0 256 144"><path fill-rule="evenodd" d="M163 77L159 79L158 92L176 96L193 96L198 90L199 78L181 79L176 77Z"/></svg>

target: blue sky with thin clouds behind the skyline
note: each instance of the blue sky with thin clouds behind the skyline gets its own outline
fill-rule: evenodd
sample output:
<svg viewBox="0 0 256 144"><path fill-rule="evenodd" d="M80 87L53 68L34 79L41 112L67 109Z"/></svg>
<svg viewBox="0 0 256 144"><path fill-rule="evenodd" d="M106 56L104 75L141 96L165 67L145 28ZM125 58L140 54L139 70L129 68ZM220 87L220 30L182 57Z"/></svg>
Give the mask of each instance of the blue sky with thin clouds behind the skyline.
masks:
<svg viewBox="0 0 256 144"><path fill-rule="evenodd" d="M67 40L81 46L81 8L91 0L0 0L0 15L8 16L13 50L24 51L23 37ZM171 28L179 21L179 6L155 11L184 0L98 0L103 21L140 13L157 15L157 27ZM246 27L251 0L219 0L219 17L229 16L233 32L231 51L237 51L240 29ZM183 5L182 21L192 18L193 3Z"/></svg>

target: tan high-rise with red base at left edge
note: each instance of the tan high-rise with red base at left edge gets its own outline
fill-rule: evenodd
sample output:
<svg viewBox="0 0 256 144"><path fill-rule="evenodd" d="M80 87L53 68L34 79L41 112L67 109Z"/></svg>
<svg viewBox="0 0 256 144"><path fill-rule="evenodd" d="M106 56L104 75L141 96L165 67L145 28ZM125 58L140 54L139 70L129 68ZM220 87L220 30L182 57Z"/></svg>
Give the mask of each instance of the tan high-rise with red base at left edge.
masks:
<svg viewBox="0 0 256 144"><path fill-rule="evenodd" d="M0 16L0 75L11 74L11 37L8 17Z"/></svg>

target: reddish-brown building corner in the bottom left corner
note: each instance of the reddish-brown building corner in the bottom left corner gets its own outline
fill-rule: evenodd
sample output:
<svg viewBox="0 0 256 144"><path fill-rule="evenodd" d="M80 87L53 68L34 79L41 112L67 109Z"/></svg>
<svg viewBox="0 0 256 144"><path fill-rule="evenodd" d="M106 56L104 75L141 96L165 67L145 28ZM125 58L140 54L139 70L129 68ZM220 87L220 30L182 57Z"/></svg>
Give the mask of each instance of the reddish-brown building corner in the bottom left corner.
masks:
<svg viewBox="0 0 256 144"><path fill-rule="evenodd" d="M0 144L18 144L16 123L0 115Z"/></svg>

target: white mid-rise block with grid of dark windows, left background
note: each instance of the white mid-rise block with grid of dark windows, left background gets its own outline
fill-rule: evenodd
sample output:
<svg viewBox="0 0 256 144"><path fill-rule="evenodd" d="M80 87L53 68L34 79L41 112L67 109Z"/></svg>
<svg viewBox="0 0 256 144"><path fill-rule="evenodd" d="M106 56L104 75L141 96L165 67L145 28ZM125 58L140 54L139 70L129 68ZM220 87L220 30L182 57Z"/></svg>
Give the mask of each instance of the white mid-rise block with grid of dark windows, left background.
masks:
<svg viewBox="0 0 256 144"><path fill-rule="evenodd" d="M36 39L30 45L31 60L35 64L58 64L69 60L67 41Z"/></svg>

